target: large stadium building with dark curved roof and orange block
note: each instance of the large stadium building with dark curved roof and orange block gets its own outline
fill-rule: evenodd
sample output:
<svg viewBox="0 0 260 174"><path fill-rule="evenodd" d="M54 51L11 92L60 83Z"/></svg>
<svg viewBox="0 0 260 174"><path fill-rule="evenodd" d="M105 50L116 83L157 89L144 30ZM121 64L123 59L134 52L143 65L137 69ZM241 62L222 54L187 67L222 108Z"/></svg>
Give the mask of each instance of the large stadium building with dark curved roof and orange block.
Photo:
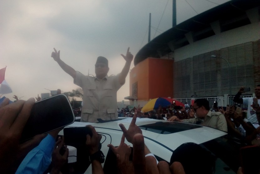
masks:
<svg viewBox="0 0 260 174"><path fill-rule="evenodd" d="M125 99L235 95L241 86L252 95L260 84L259 19L259 0L232 0L170 28L136 54Z"/></svg>

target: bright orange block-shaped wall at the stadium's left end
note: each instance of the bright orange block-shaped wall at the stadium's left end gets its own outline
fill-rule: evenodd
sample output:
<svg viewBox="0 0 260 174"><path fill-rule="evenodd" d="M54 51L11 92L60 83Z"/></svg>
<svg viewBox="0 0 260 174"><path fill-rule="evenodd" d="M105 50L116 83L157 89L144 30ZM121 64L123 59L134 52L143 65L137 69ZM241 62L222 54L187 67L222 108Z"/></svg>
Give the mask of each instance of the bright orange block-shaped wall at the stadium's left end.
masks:
<svg viewBox="0 0 260 174"><path fill-rule="evenodd" d="M173 98L173 60L148 58L130 71L130 96L132 84L138 82L138 100L157 97Z"/></svg>

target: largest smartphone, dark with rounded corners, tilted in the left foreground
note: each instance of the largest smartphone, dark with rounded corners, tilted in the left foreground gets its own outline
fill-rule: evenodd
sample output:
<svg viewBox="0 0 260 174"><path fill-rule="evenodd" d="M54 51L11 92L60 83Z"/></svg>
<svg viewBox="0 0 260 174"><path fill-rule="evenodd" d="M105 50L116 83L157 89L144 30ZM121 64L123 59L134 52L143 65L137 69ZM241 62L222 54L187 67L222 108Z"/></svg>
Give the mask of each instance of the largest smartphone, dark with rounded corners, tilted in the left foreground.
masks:
<svg viewBox="0 0 260 174"><path fill-rule="evenodd" d="M34 103L24 126L20 142L44 134L75 121L70 100L64 94L55 95Z"/></svg>

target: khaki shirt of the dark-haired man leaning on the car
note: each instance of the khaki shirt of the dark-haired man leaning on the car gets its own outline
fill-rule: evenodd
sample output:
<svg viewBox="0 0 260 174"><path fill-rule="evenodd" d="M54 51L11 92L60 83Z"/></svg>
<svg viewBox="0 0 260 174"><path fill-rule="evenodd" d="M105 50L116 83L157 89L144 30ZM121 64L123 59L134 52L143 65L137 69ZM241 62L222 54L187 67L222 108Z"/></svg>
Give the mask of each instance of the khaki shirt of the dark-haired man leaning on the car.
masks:
<svg viewBox="0 0 260 174"><path fill-rule="evenodd" d="M213 127L227 132L226 118L221 112L209 111L205 119L192 118L192 119L182 120L182 122L193 123L193 124L198 124L198 122L200 122L201 125Z"/></svg>

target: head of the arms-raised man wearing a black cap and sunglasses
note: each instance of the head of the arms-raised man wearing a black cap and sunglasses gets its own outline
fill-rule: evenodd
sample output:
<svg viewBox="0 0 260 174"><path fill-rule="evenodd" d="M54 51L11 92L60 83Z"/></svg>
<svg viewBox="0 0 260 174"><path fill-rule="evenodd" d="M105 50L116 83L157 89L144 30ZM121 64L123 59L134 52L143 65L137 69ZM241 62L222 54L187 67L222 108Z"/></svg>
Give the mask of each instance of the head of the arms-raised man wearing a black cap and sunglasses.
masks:
<svg viewBox="0 0 260 174"><path fill-rule="evenodd" d="M108 60L105 57L99 56L96 59L95 73L98 79L103 79L109 71Z"/></svg>

